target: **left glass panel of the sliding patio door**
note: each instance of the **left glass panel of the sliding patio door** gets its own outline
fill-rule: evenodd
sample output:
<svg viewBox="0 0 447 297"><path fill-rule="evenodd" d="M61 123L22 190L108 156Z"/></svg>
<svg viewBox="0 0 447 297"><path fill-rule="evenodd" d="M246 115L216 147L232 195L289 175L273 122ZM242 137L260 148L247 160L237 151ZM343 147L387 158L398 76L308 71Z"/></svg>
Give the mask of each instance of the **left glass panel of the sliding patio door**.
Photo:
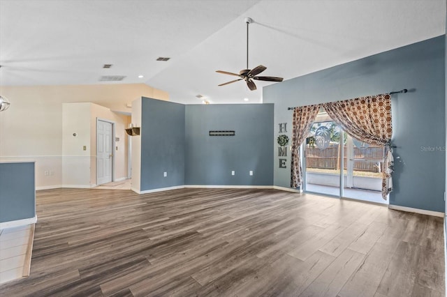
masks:
<svg viewBox="0 0 447 297"><path fill-rule="evenodd" d="M312 125L305 142L305 191L340 195L341 130L333 121Z"/></svg>

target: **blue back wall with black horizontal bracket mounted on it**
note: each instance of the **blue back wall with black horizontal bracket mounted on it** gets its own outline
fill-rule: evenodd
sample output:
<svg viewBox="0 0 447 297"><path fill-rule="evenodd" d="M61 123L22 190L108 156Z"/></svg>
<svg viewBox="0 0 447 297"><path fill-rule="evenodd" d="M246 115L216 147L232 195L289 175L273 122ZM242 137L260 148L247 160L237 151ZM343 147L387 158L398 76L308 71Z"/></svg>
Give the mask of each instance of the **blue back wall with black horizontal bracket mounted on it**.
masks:
<svg viewBox="0 0 447 297"><path fill-rule="evenodd" d="M186 185L272 185L272 104L186 105L185 120Z"/></svg>

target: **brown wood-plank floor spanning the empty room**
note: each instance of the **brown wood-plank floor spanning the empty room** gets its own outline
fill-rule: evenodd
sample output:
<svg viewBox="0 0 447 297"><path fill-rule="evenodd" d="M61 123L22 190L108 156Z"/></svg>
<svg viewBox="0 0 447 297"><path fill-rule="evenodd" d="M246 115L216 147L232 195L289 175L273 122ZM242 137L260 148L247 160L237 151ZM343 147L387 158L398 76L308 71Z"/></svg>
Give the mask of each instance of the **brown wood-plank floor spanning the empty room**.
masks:
<svg viewBox="0 0 447 297"><path fill-rule="evenodd" d="M278 190L37 192L0 296L445 296L442 218Z"/></svg>

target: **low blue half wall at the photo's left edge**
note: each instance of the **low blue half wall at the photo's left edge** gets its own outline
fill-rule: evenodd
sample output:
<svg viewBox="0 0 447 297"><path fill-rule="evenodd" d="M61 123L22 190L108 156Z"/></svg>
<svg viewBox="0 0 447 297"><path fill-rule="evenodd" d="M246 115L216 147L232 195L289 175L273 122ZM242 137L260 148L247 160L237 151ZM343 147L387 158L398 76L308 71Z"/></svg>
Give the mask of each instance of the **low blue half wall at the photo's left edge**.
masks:
<svg viewBox="0 0 447 297"><path fill-rule="evenodd" d="M0 163L0 222L35 215L34 162Z"/></svg>

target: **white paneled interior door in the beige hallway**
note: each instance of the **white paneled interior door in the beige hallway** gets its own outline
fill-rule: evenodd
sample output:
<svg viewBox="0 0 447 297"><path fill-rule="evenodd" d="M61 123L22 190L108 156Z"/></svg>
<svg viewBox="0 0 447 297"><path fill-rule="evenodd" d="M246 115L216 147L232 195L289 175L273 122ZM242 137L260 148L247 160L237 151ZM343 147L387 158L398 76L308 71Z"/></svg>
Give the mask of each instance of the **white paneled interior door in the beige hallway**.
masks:
<svg viewBox="0 0 447 297"><path fill-rule="evenodd" d="M96 172L97 184L110 183L112 181L113 160L113 124L98 120L96 123Z"/></svg>

